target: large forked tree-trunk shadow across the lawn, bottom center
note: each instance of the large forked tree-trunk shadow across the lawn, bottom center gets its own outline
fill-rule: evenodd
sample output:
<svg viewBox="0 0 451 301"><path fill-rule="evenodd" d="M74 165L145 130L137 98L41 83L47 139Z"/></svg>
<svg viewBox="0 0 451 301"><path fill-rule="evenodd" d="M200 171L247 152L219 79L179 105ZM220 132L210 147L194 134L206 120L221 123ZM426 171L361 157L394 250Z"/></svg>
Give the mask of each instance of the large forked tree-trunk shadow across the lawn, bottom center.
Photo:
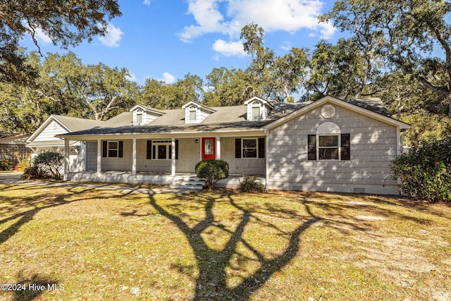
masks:
<svg viewBox="0 0 451 301"><path fill-rule="evenodd" d="M176 196L180 199L180 195ZM224 197L222 195L221 197ZM262 222L258 214L253 211L253 209L247 209L244 206L235 202L233 195L225 195L228 205L235 211L239 211L239 221L235 225L234 230L226 229L226 226L218 223L214 216L213 207L215 202L219 202L218 199L206 195L206 204L204 204L204 219L200 220L194 226L188 226L188 223L192 221L189 220L187 223L185 220L190 216L185 214L180 210L176 210L177 206L158 204L154 195L150 194L150 204L159 212L162 216L170 219L175 225L182 231L192 247L194 256L197 260L197 269L199 271L199 276L196 278L196 291L194 295L194 300L247 300L249 297L261 288L266 281L276 272L283 269L291 259L293 259L299 252L299 243L301 240L301 235L307 230L312 224L319 221L319 217L314 216L309 209L308 204L304 204L304 209L307 211L307 216L298 216L295 212L284 209L271 209L268 213L283 215L288 219L293 219L295 223L294 231L282 231L276 225L265 221L266 227L270 226L274 231L278 232L279 235L285 235L289 237L288 246L282 252L277 252L278 254L268 255L257 247L254 247L254 242L249 242L246 238L245 228L249 226L249 221L254 223ZM182 197L183 198L183 197ZM174 197L175 199L175 197ZM171 212L177 213L171 213ZM237 219L238 214L234 214L235 219ZM280 217L280 216L279 216ZM196 218L194 218L196 219ZM254 225L255 226L255 225ZM228 240L226 240L225 246L218 250L209 246L208 241L205 236L208 231L207 228L214 227L220 231L226 231L228 233ZM249 235L249 234L247 234ZM237 250L237 245L241 243L247 250L252 252L253 258L246 257ZM235 287L230 287L228 285L228 269L240 269L240 266L233 266L231 262L233 257L237 257L242 261L253 261L258 262L259 267L254 273L248 276L242 276L241 283L237 284ZM268 259L268 257L271 257ZM240 260L238 260L240 263ZM178 271L192 275L193 266L174 266ZM189 270L189 271L187 271Z"/></svg>

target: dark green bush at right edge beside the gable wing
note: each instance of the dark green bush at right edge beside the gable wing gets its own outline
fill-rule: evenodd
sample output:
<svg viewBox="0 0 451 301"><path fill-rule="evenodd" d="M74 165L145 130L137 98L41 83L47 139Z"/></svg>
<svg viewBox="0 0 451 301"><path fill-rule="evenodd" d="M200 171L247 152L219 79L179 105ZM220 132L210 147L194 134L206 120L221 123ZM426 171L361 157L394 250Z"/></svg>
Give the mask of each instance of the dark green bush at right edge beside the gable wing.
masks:
<svg viewBox="0 0 451 301"><path fill-rule="evenodd" d="M451 137L410 149L392 163L405 195L431 202L451 202Z"/></svg>

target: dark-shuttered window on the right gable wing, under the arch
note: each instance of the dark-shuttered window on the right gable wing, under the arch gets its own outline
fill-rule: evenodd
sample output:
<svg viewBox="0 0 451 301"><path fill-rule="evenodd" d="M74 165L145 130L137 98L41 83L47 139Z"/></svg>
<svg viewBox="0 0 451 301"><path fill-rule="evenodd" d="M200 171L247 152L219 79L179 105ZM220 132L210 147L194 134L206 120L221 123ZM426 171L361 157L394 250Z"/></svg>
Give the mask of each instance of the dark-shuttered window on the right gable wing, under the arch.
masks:
<svg viewBox="0 0 451 301"><path fill-rule="evenodd" d="M350 134L309 135L309 160L350 160ZM318 141L318 145L316 145Z"/></svg>

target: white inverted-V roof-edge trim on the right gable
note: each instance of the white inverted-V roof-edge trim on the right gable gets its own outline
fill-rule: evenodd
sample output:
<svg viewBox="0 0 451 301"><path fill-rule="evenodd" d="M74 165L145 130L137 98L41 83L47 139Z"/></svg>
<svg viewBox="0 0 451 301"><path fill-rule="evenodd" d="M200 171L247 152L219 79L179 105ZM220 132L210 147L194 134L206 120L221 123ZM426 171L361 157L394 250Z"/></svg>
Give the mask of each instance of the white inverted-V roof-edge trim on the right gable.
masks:
<svg viewBox="0 0 451 301"><path fill-rule="evenodd" d="M393 126L398 126L401 130L406 130L408 128L411 128L410 125L408 125L407 123L403 123L402 121L397 121L396 119L393 119L393 118L390 118L387 116L383 116L380 113L376 113L376 112L370 111L368 109L364 109L355 104L350 104L349 102L345 102L341 99L338 99L335 97L330 97L330 96L323 97L323 98L317 100L316 102L307 104L307 106L303 106L301 109L294 111L294 112L288 114L287 116L284 116L272 123L269 123L268 125L264 125L264 127L262 127L262 128L263 129L276 128L278 125L280 125L282 123L286 123L286 122L292 120L293 118L296 118L297 116L307 113L308 111L316 109L319 106L322 106L323 104L327 104L327 103L336 104L337 106L342 106L345 109L349 109L350 111L355 111L357 113L361 113L362 115L369 116L378 121L382 121L383 123L388 123Z"/></svg>

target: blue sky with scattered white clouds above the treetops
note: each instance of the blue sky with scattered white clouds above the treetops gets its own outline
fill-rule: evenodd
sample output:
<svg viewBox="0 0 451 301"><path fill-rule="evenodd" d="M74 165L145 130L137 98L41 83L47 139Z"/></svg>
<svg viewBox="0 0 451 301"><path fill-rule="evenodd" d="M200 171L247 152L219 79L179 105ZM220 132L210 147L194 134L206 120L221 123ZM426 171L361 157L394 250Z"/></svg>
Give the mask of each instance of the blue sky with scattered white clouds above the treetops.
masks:
<svg viewBox="0 0 451 301"><path fill-rule="evenodd" d="M204 79L213 68L245 68L249 57L242 51L240 30L247 23L264 28L264 45L278 55L342 35L316 20L333 1L120 0L119 5L123 16L111 20L106 37L69 50L85 64L125 67L140 85L146 78L171 83L187 73ZM45 35L38 41L43 54L67 52ZM30 37L23 46L36 50Z"/></svg>

